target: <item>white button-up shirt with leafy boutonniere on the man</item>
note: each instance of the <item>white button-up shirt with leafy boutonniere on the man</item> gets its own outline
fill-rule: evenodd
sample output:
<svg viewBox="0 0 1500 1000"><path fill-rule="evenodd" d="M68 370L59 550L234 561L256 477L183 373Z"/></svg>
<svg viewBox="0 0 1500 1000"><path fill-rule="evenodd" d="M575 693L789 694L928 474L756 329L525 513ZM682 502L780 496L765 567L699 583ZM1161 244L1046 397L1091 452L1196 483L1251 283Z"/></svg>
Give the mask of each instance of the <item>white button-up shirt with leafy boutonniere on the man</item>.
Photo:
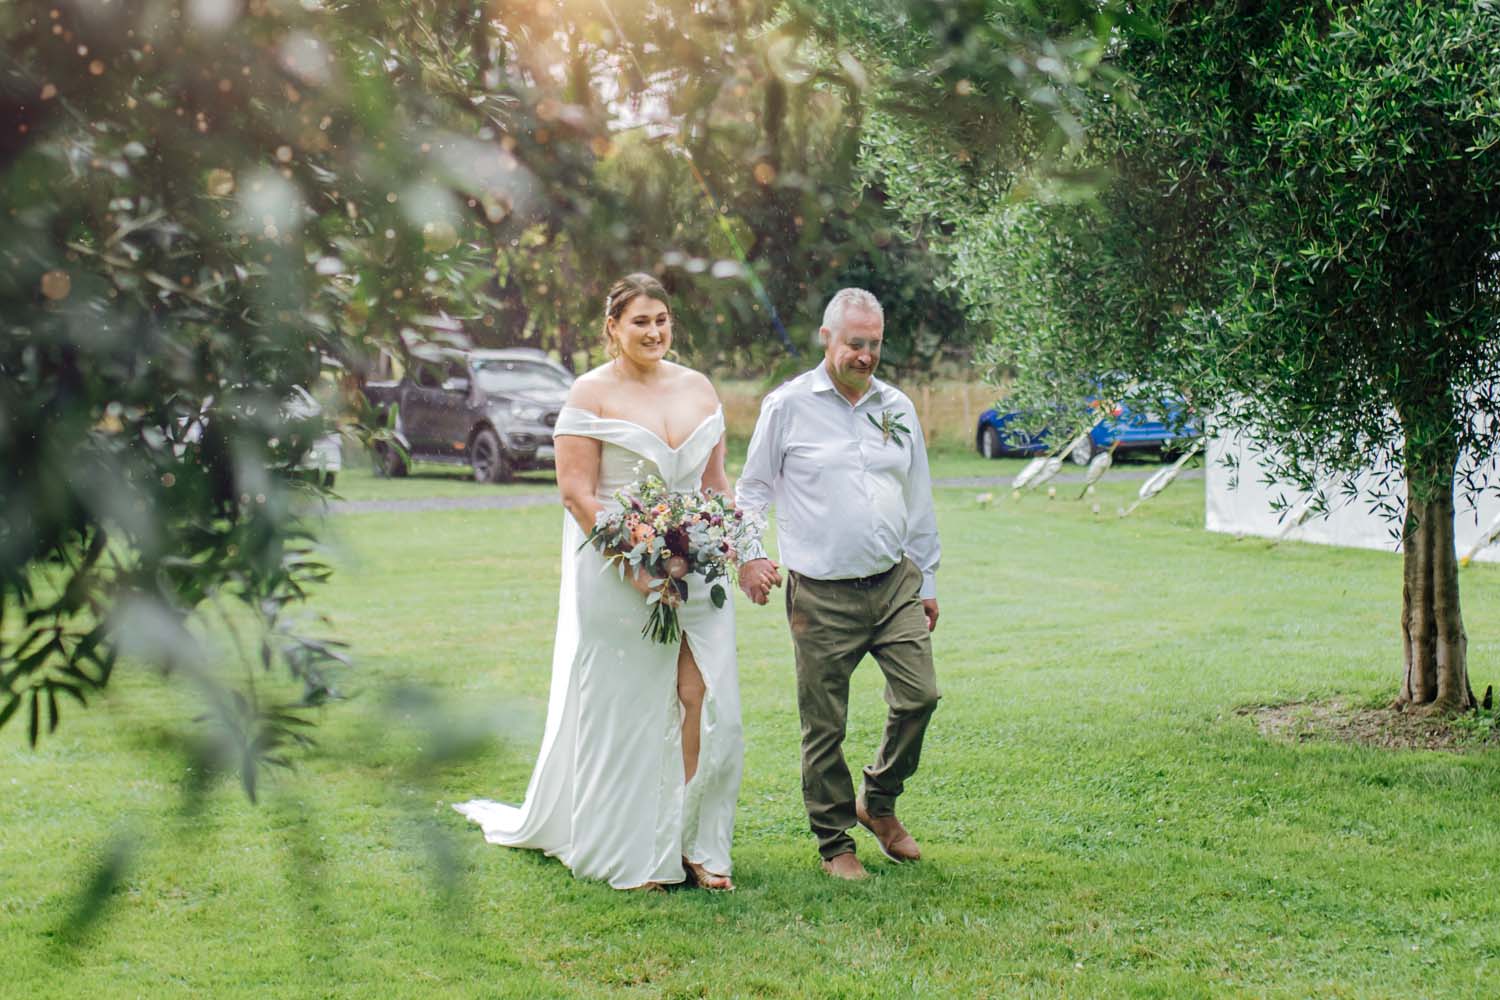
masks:
<svg viewBox="0 0 1500 1000"><path fill-rule="evenodd" d="M878 426L886 412L910 433L886 439ZM894 385L872 378L850 405L819 364L766 396L735 504L752 525L765 525L772 502L786 568L849 580L885 573L906 555L922 573L921 597L938 597L927 444L916 408ZM764 555L759 540L744 553Z"/></svg>

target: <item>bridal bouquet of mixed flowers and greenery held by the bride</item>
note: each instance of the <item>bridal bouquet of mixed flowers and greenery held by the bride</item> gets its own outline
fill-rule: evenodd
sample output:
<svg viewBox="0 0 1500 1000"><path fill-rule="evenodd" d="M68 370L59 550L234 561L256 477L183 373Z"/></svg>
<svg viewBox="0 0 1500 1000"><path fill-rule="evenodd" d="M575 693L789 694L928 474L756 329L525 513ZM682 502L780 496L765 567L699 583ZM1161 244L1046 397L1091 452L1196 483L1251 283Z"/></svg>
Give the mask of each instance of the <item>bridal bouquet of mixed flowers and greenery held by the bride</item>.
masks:
<svg viewBox="0 0 1500 1000"><path fill-rule="evenodd" d="M718 580L735 568L748 535L744 516L728 496L714 490L678 493L654 475L615 490L616 507L598 511L584 544L592 544L604 562L626 573L651 574L650 613L640 634L660 643L682 637L676 609L687 600L687 577L700 573L708 600L724 606Z"/></svg>

